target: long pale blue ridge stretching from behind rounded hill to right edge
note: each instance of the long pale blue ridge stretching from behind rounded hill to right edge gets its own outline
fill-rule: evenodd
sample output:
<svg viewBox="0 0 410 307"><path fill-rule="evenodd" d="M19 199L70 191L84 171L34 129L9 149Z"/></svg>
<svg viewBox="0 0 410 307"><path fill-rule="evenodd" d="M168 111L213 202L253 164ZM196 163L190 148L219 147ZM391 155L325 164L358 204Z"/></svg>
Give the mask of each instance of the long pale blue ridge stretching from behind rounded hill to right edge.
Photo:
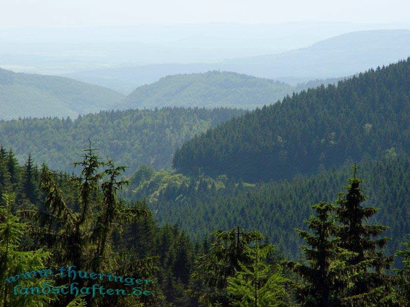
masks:
<svg viewBox="0 0 410 307"><path fill-rule="evenodd" d="M353 75L410 55L409 30L372 30L345 33L310 47L280 54L226 59L210 63L122 65L66 74L128 94L136 87L167 75L232 71L296 85L311 79Z"/></svg>

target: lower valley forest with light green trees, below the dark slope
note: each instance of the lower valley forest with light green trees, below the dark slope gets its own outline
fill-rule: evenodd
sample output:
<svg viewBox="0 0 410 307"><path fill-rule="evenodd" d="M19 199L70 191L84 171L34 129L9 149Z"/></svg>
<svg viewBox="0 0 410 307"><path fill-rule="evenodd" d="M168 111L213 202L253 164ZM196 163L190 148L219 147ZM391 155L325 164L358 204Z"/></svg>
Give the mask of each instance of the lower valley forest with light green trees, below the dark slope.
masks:
<svg viewBox="0 0 410 307"><path fill-rule="evenodd" d="M265 184L235 182L226 176L186 177L141 166L130 177L132 183L125 196L147 197L161 223L177 223L193 237L240 225L245 230L260 230L286 257L294 258L301 243L294 229L304 228L313 204L336 200L352 176L352 164L348 161L312 176ZM389 226L387 236L394 239L387 250L393 253L410 231L410 159L389 149L380 160L365 158L359 165L358 176L364 179L365 194L370 196L364 205L380 207L370 222Z"/></svg>

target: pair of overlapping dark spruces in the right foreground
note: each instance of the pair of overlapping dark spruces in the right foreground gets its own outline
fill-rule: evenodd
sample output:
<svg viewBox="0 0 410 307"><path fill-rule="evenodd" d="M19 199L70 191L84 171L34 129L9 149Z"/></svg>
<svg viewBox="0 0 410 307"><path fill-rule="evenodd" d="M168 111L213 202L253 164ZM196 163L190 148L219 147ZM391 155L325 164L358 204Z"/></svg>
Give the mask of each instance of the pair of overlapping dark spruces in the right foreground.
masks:
<svg viewBox="0 0 410 307"><path fill-rule="evenodd" d="M378 208L362 207L366 199L359 188L362 180L348 179L337 206L318 203L317 216L305 221L313 234L297 229L308 243L302 247L309 265L288 261L288 266L305 281L297 287L303 306L396 306L396 278L387 275L393 257L384 256L387 227L368 225ZM333 215L332 213L336 214ZM372 237L377 237L372 239Z"/></svg>

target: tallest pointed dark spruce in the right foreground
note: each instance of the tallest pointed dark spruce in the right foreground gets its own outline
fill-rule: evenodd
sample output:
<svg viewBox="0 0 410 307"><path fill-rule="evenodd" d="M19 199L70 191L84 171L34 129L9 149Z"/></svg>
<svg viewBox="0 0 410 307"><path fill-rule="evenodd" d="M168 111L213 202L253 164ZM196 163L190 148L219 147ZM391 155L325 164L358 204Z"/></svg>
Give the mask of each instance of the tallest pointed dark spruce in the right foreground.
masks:
<svg viewBox="0 0 410 307"><path fill-rule="evenodd" d="M336 201L337 221L341 224L337 230L339 247L355 253L349 265L361 267L347 293L355 306L392 305L394 277L386 270L391 269L393 256L383 255L382 248L389 238L380 236L388 227L366 223L379 208L361 205L367 196L360 188L363 181L356 177L357 170L354 165L353 178L348 179L346 191L340 192Z"/></svg>

